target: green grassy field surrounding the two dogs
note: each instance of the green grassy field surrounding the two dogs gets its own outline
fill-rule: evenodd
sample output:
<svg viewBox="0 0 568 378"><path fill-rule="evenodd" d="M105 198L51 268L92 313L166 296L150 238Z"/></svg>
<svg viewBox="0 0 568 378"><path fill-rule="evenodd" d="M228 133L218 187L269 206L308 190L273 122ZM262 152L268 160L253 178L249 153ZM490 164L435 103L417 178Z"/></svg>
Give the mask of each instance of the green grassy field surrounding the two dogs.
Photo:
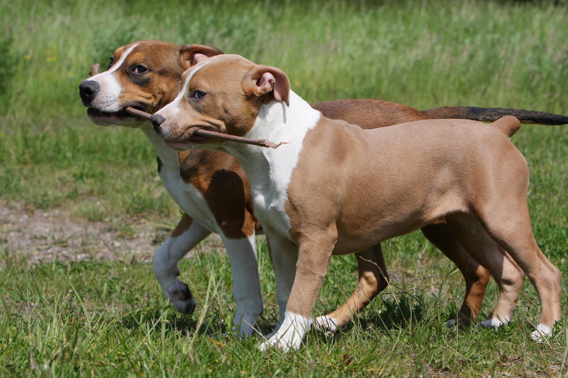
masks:
<svg viewBox="0 0 568 378"><path fill-rule="evenodd" d="M62 211L133 237L139 219L168 228L178 209L142 133L90 124L78 84L93 62L139 39L200 43L282 68L315 102L380 98L419 109L511 107L568 114L568 4L556 2L14 2L0 0L0 199ZM536 239L568 277L566 126L523 126ZM1 218L0 218L1 219ZM22 227L25 227L22 225ZM268 332L278 310L260 246ZM228 333L235 303L224 250L182 261L198 298L182 316L147 262L29 263L0 223L0 376L561 376L566 321L544 345L529 337L538 297L527 281L513 322L446 330L460 273L420 233L385 243L392 286L360 320L308 335L289 355ZM334 257L315 313L354 288L352 256ZM566 291L566 281L564 281ZM497 297L491 282L482 315ZM566 293L562 311L566 315Z"/></svg>

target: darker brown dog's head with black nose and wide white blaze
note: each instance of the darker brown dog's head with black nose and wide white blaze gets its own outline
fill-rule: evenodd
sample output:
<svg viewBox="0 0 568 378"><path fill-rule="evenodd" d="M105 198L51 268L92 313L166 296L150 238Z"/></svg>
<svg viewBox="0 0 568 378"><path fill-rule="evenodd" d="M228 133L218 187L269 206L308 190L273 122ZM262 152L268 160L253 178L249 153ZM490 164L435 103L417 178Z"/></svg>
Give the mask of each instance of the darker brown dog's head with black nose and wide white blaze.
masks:
<svg viewBox="0 0 568 378"><path fill-rule="evenodd" d="M127 107L154 113L178 94L181 75L193 60L223 54L203 45L137 41L115 50L105 72L79 85L87 115L95 124L130 125L144 121L124 112Z"/></svg>

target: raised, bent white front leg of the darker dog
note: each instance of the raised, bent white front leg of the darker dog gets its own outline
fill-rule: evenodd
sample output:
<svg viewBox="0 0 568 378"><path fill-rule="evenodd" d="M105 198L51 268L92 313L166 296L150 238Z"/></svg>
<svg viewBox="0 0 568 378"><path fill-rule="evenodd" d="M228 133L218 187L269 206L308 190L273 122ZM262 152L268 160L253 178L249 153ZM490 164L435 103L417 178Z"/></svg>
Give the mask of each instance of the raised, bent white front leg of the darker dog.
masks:
<svg viewBox="0 0 568 378"><path fill-rule="evenodd" d="M154 276L160 282L166 298L179 312L192 313L195 309L195 299L187 284L177 278L181 274L177 263L210 233L211 231L194 222L189 215L183 214L172 235L154 253Z"/></svg>

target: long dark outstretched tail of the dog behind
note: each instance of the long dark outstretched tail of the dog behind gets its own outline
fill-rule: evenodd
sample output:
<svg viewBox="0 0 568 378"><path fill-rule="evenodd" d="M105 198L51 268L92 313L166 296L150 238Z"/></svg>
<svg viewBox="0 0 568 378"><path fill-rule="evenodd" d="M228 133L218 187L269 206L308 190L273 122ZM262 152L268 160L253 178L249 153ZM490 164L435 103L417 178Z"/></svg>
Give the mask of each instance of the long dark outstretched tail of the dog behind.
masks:
<svg viewBox="0 0 568 378"><path fill-rule="evenodd" d="M460 118L474 121L496 121L504 116L515 116L521 124L566 125L568 117L559 114L524 111L522 109L444 107L421 111L430 118Z"/></svg>

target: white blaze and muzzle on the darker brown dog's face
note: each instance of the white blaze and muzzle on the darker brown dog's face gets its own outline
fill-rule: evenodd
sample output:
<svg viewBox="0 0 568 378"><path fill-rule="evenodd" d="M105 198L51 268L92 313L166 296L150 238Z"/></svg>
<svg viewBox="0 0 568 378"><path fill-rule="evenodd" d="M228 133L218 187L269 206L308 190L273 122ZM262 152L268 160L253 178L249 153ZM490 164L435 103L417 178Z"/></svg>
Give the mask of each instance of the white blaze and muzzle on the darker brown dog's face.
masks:
<svg viewBox="0 0 568 378"><path fill-rule="evenodd" d="M100 85L97 96L95 96L95 99L90 105L92 108L107 113L118 112L122 109L122 105L120 105L118 101L120 91L122 91L122 86L114 72L122 66L122 63L124 63L128 54L130 54L137 45L138 44L130 46L130 48L122 54L119 61L116 62L110 70L94 75L89 79L99 83Z"/></svg>

